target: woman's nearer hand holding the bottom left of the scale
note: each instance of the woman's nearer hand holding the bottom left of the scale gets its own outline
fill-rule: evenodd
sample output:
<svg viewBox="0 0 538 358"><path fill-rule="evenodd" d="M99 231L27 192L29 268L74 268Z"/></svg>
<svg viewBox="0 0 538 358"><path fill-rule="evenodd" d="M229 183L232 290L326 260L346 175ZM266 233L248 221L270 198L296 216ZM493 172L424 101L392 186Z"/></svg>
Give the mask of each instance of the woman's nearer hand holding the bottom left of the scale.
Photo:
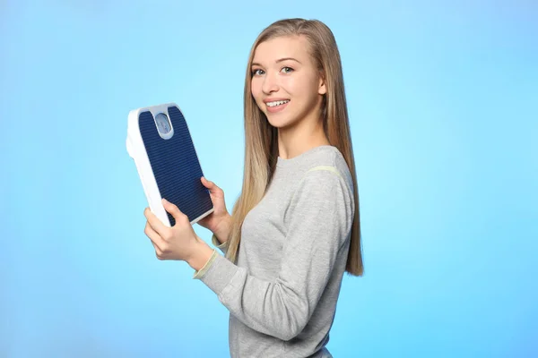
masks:
<svg viewBox="0 0 538 358"><path fill-rule="evenodd" d="M176 219L176 225L165 226L152 210L146 208L143 210L147 218L143 232L152 240L159 260L191 260L195 256L196 245L202 240L195 234L187 215L176 205L164 198L162 205Z"/></svg>

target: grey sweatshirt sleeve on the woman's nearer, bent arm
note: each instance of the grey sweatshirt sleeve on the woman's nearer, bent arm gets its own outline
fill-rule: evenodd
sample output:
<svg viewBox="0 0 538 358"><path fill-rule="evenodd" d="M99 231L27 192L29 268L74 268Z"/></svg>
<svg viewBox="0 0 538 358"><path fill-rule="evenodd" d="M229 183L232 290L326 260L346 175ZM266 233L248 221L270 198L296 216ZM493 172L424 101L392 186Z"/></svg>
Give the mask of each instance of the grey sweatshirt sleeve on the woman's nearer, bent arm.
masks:
<svg viewBox="0 0 538 358"><path fill-rule="evenodd" d="M352 192L335 170L303 176L285 214L287 234L278 277L266 281L217 254L199 278L248 327L290 340L307 325L349 240ZM267 238L271 240L271 238Z"/></svg>

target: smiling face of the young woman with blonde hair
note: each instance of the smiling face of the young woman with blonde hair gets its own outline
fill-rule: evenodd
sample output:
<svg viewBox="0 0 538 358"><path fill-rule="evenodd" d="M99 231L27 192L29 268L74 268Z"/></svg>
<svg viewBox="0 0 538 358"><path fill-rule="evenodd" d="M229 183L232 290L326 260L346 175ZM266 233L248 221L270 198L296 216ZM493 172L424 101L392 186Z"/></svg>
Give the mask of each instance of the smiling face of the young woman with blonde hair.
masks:
<svg viewBox="0 0 538 358"><path fill-rule="evenodd" d="M280 37L256 47L252 62L252 96L271 125L285 128L318 120L325 82L303 37Z"/></svg>

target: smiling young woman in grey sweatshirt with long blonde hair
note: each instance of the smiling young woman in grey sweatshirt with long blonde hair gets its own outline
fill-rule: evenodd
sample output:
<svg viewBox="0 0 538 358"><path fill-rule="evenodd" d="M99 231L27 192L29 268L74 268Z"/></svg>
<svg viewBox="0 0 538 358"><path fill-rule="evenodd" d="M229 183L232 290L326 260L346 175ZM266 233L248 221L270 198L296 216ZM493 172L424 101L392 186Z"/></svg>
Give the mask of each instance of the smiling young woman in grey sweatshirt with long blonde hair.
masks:
<svg viewBox="0 0 538 358"><path fill-rule="evenodd" d="M330 357L325 345L343 273L362 275L359 196L340 55L320 21L276 21L256 38L245 82L245 172L230 215L204 243L178 207L176 226L149 209L160 260L185 260L230 311L232 357Z"/></svg>

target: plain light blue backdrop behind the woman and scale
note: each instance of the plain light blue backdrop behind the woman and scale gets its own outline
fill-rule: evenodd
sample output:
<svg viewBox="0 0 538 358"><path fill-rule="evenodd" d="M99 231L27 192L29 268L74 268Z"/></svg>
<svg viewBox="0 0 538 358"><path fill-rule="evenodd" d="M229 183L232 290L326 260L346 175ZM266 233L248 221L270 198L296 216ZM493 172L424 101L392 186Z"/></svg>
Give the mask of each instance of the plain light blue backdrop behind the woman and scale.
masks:
<svg viewBox="0 0 538 358"><path fill-rule="evenodd" d="M178 103L231 209L248 51L286 17L334 31L351 116L366 272L330 351L538 356L538 5L508 0L0 2L0 356L228 356L143 234L127 114Z"/></svg>

